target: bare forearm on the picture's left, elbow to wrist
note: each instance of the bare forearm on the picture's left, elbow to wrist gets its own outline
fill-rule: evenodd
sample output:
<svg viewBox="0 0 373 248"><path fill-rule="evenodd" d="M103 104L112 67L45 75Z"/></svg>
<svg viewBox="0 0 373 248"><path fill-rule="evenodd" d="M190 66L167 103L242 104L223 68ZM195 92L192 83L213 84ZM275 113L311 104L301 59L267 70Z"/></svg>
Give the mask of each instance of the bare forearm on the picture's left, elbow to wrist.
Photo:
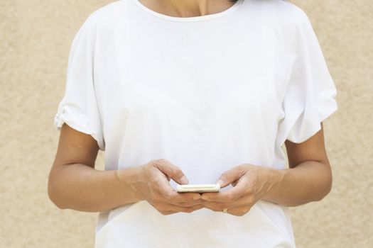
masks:
<svg viewBox="0 0 373 248"><path fill-rule="evenodd" d="M111 210L141 201L134 190L140 173L140 167L99 171L85 164L67 164L51 171L48 194L59 208L86 212Z"/></svg>

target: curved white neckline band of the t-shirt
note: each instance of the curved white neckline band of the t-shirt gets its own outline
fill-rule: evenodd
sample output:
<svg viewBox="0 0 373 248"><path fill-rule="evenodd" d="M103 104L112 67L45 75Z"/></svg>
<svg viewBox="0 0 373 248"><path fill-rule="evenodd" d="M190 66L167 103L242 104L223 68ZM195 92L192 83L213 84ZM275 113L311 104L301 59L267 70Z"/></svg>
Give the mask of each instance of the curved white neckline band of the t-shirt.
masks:
<svg viewBox="0 0 373 248"><path fill-rule="evenodd" d="M225 16L228 13L232 13L233 11L239 9L239 6L242 5L244 0L237 0L232 6L230 6L228 9L225 9L224 11L218 12L218 13L212 13L205 16L190 16L190 17L180 17L180 16L167 16L163 13L158 13L156 11L153 11L152 9L149 9L144 4L141 4L139 0L132 0L136 4L136 6L139 6L140 9L146 11L147 13L150 13L153 16L156 16L158 18L163 18L168 21L180 21L180 22L190 22L190 21L206 21L211 20L214 18L218 18L221 16Z"/></svg>

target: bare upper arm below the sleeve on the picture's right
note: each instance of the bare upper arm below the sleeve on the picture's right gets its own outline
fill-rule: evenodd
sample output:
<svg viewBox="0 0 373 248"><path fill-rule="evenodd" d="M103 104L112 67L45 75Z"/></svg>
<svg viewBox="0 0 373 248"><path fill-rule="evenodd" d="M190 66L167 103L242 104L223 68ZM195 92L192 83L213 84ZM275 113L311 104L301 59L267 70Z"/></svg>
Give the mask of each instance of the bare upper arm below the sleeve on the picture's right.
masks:
<svg viewBox="0 0 373 248"><path fill-rule="evenodd" d="M330 166L328 156L325 150L323 123L320 123L321 129L305 142L294 143L285 141L286 152L288 154L288 164L290 168L306 160L322 162Z"/></svg>

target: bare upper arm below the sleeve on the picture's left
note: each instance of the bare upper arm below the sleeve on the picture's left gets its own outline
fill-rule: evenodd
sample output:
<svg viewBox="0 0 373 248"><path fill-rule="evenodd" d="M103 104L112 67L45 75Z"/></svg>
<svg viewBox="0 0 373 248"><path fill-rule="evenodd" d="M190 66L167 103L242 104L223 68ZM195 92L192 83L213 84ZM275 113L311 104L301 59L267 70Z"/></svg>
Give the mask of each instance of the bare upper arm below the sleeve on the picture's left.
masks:
<svg viewBox="0 0 373 248"><path fill-rule="evenodd" d="M70 128L66 123L60 130L60 140L53 167L65 164L85 164L94 168L99 147L91 135Z"/></svg>

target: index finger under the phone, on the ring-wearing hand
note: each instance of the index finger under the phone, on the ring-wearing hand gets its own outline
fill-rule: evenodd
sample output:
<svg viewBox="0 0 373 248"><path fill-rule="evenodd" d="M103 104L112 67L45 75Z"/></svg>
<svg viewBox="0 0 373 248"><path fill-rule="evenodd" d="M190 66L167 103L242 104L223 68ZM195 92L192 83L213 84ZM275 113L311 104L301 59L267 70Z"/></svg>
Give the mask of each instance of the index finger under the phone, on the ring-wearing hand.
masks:
<svg viewBox="0 0 373 248"><path fill-rule="evenodd" d="M241 179L239 179L236 186L234 186L233 188L230 188L227 191L220 191L217 193L202 193L201 198L205 201L232 202L237 201L239 198L250 192L251 188L247 186L247 179L244 179L244 177L242 177Z"/></svg>

